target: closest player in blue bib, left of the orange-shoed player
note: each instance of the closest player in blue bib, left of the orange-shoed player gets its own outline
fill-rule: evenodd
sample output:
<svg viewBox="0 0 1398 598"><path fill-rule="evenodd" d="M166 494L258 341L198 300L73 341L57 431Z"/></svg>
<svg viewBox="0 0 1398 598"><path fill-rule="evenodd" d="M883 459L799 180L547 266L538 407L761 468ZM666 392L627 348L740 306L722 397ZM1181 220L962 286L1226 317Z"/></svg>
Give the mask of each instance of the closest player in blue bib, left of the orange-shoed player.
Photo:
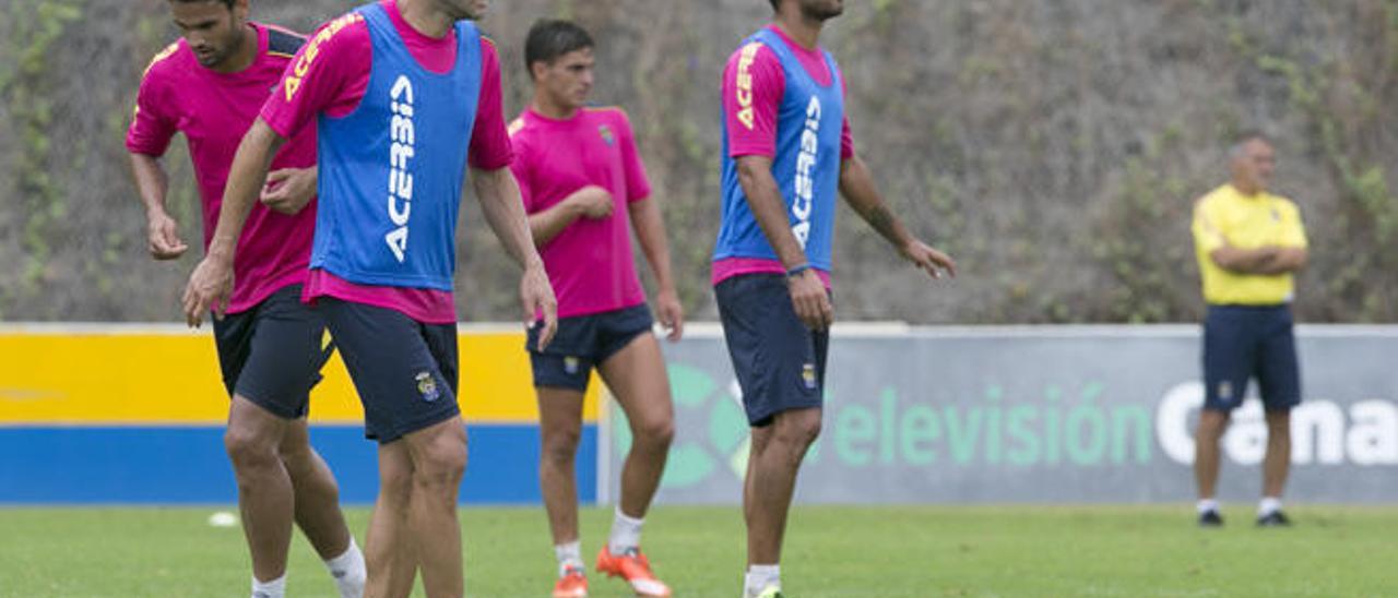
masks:
<svg viewBox="0 0 1398 598"><path fill-rule="evenodd" d="M466 468L457 407L456 222L467 173L505 250L524 267L526 319L556 327L500 105L480 0L380 0L324 27L296 54L233 158L208 257L186 291L197 323L231 286L233 245L267 159L315 122L320 211L305 298L317 305L379 443L365 542L366 595L405 597L414 560L429 597L460 597L456 503Z"/></svg>

